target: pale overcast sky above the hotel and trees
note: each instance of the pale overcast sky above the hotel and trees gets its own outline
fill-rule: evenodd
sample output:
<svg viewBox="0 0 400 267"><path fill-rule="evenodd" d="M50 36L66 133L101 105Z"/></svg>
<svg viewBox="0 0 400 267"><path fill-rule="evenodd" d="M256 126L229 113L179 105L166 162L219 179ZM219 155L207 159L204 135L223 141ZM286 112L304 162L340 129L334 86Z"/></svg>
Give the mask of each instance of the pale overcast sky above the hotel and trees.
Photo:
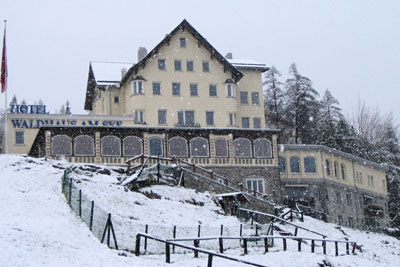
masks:
<svg viewBox="0 0 400 267"><path fill-rule="evenodd" d="M136 62L184 18L221 54L292 62L345 114L358 99L400 121L400 1L0 1L8 100L83 109L91 60ZM1 33L4 23L1 23ZM1 38L3 34L1 34ZM4 94L0 108L4 107Z"/></svg>

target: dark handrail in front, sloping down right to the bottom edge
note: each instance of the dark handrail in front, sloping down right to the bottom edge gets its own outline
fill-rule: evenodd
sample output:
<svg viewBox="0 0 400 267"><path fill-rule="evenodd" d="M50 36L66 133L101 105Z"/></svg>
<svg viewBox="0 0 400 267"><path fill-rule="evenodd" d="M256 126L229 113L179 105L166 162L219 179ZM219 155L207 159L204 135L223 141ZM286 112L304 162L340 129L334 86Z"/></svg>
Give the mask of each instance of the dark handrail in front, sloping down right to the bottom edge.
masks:
<svg viewBox="0 0 400 267"><path fill-rule="evenodd" d="M135 255L139 256L140 255L140 237L145 237L148 239L152 239L161 243L166 244L165 246L165 251L166 251L166 262L167 263L171 263L170 261L170 245L176 246L176 247L181 247L181 248L185 248L185 249L190 249L193 250L195 252L195 256L200 252L200 253L204 253L204 254L208 254L208 264L207 266L212 266L212 258L215 257L219 257L219 258L223 258L223 259L227 259L227 260L231 260L231 261L236 261L236 262L240 262L240 263L244 263L244 264L248 264L248 265L252 265L252 266L258 266L258 267L266 267L265 265L261 265L261 264L257 264L257 263L253 263L253 262L249 262L249 261L245 261L245 260L241 260L241 259L237 259L237 258L233 258L230 256L226 256L223 255L221 253L215 253L213 251L207 250L207 249L202 249L199 247L195 247L195 246L189 246L189 245L184 245L184 244L179 244L173 241L168 241L168 240L164 240L161 238L157 238L157 237L153 237L150 236L148 234L143 234L143 233L137 233L136 234L136 247L135 247Z"/></svg>

